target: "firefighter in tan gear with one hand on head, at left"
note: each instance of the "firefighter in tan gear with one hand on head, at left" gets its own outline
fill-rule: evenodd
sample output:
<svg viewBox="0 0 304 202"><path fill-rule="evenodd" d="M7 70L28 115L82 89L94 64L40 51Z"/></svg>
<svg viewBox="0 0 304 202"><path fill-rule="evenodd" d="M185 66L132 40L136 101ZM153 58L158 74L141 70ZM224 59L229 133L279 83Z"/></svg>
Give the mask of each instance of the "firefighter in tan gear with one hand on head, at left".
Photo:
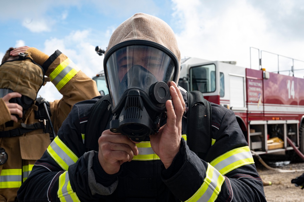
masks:
<svg viewBox="0 0 304 202"><path fill-rule="evenodd" d="M61 100L37 98L48 79L63 95ZM0 201L17 200L21 183L72 106L98 95L95 81L59 50L47 56L23 46L5 53L0 66Z"/></svg>

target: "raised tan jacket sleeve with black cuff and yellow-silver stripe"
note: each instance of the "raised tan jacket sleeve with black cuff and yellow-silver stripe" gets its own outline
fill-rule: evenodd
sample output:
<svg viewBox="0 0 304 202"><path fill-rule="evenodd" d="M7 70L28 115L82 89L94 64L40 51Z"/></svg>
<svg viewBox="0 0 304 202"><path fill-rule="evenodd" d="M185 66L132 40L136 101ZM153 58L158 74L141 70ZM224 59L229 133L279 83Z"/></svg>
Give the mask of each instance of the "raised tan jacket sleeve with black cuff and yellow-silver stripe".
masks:
<svg viewBox="0 0 304 202"><path fill-rule="evenodd" d="M92 99L100 93L96 82L86 76L67 56L56 50L42 65L45 75L50 78L63 95L61 100L50 102L52 122L58 132L73 105L79 101Z"/></svg>

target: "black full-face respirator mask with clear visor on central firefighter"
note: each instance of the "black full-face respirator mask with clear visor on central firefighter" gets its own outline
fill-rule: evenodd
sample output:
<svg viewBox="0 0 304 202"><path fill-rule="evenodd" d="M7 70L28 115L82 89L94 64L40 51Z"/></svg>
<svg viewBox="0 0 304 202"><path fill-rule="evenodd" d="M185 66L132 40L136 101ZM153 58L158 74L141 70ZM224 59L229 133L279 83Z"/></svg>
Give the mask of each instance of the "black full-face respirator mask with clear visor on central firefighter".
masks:
<svg viewBox="0 0 304 202"><path fill-rule="evenodd" d="M112 47L103 67L114 114L110 131L135 142L157 133L171 98L170 82L177 81L176 56L158 43L130 40Z"/></svg>

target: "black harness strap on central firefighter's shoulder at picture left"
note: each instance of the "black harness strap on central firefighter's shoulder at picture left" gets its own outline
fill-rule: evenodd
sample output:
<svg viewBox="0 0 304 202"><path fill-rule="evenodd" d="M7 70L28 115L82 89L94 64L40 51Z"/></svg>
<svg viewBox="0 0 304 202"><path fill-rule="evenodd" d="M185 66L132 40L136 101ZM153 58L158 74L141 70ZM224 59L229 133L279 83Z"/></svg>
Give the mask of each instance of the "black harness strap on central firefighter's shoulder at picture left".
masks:
<svg viewBox="0 0 304 202"><path fill-rule="evenodd" d="M91 108L88 122L86 123L85 145L87 151L98 151L98 138L106 129L112 115L109 94L102 96Z"/></svg>

